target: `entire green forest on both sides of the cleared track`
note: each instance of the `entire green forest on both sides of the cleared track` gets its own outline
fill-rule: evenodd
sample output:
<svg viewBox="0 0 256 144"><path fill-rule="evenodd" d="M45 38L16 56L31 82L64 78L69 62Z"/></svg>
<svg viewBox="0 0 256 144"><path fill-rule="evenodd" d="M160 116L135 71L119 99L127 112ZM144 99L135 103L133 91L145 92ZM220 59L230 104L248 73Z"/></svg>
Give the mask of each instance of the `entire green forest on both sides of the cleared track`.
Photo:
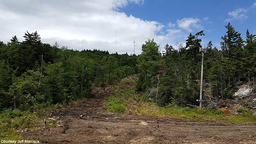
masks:
<svg viewBox="0 0 256 144"><path fill-rule="evenodd" d="M204 87L212 97L233 99L237 81L254 84L256 74L256 35L246 38L228 23L220 48L210 41L204 53ZM28 110L37 104L68 104L87 97L92 86L105 87L136 75L136 92L147 92L157 105L175 103L196 105L200 92L202 37L191 34L186 44L159 44L148 39L142 53L128 55L97 49L77 51L44 44L37 32L26 32L24 41L13 36L0 41L0 111Z"/></svg>

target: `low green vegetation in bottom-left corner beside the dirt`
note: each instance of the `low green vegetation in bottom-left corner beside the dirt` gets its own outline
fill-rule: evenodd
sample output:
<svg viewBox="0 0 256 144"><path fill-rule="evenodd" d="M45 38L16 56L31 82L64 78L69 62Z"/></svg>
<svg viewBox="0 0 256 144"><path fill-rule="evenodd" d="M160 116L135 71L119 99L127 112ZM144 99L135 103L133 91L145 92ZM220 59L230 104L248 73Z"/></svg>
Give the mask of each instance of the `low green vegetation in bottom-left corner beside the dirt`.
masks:
<svg viewBox="0 0 256 144"><path fill-rule="evenodd" d="M0 139L2 140L21 140L22 132L35 131L43 125L44 121L47 124L57 125L55 121L51 119L42 119L42 115L53 109L63 108L62 104L37 104L34 107L31 107L30 111L21 111L21 110L10 110L3 109L0 111ZM47 125L48 127L52 127ZM30 140L30 138L26 138ZM31 140L33 140L31 138Z"/></svg>

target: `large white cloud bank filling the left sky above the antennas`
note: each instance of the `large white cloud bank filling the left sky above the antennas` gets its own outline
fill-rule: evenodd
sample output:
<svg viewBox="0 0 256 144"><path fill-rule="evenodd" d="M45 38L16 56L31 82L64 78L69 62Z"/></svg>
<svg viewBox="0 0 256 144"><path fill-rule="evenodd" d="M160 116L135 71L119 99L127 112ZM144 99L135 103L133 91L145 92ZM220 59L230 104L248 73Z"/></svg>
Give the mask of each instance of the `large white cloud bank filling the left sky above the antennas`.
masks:
<svg viewBox="0 0 256 144"><path fill-rule="evenodd" d="M185 42L187 31L202 27L199 19L184 18L177 20L178 25L170 23L171 29L164 30L165 26L157 21L142 20L118 10L130 4L144 4L144 1L3 0L0 1L0 40L10 41L14 35L24 40L22 36L27 30L37 31L44 43L53 45L57 41L60 47L64 45L69 49L100 49L113 53L117 30L117 52L133 53L135 40L135 52L139 54L141 44L148 38L154 38L163 48L166 43Z"/></svg>

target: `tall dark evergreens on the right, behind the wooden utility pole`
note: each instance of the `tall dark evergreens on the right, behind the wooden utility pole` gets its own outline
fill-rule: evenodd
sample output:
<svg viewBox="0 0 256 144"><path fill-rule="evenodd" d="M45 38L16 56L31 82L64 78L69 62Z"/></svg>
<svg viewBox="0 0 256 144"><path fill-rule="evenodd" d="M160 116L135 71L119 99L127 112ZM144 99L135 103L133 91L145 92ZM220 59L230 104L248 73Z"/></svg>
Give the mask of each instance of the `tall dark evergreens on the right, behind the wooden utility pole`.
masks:
<svg viewBox="0 0 256 144"><path fill-rule="evenodd" d="M232 90L240 79L254 83L256 76L256 35L247 29L246 40L243 40L230 23L225 27L227 31L221 37L221 50L213 47L210 41L204 53L203 93L217 100L232 99ZM154 39L146 41L138 57L140 76L136 90L148 90L150 99L158 104L197 104L202 36L204 31L190 34L185 47L177 43L178 50L166 44L162 55ZM210 91L206 93L208 89Z"/></svg>

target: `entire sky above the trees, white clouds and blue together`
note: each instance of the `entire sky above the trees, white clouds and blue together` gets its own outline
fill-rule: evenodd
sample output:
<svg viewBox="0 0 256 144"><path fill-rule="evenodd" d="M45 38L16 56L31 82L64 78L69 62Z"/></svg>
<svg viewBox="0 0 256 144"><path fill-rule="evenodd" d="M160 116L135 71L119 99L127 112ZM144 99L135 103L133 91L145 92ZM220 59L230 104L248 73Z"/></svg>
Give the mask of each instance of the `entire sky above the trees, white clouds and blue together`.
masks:
<svg viewBox="0 0 256 144"><path fill-rule="evenodd" d="M255 18L254 0L1 0L0 41L14 35L22 41L28 30L51 45L130 54L135 40L139 54L148 38L163 49L166 43L185 45L189 33L204 29L202 44L212 40L219 48L228 22L245 37L247 28L256 34Z"/></svg>

